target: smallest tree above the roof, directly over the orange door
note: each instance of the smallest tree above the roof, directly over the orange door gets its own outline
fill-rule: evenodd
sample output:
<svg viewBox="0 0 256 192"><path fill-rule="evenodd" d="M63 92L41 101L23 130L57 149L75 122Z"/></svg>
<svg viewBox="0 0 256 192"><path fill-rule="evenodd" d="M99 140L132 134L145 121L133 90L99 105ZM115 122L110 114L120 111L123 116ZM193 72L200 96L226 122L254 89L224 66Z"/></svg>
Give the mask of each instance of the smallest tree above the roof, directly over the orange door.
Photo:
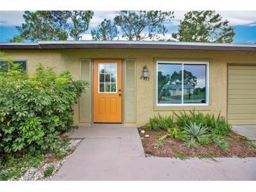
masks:
<svg viewBox="0 0 256 192"><path fill-rule="evenodd" d="M118 31L115 24L112 25L111 20L103 20L96 29L91 30L93 40L112 41L116 38Z"/></svg>

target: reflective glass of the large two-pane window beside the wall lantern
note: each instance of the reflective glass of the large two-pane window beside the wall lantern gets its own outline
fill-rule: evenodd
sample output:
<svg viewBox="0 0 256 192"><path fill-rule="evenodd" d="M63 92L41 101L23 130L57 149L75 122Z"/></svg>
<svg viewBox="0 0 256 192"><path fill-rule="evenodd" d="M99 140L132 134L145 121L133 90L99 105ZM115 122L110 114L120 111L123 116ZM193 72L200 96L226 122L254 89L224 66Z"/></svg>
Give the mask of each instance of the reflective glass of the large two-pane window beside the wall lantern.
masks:
<svg viewBox="0 0 256 192"><path fill-rule="evenodd" d="M158 103L206 103L206 64L158 64ZM183 101L182 101L183 83Z"/></svg>

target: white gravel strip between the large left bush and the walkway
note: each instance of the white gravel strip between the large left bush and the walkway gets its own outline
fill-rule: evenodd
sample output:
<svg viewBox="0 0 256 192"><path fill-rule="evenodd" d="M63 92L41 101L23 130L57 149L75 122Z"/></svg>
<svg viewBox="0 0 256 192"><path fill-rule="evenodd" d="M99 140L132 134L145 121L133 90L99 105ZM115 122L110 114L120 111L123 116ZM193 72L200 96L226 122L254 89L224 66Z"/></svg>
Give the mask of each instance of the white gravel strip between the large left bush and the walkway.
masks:
<svg viewBox="0 0 256 192"><path fill-rule="evenodd" d="M81 141L82 139L71 139L69 141L69 144L67 144L67 146L64 146L61 150L67 151L67 149L71 149L73 151L76 148L76 146L80 144ZM25 171L24 174L22 174L20 178L15 180L18 180L18 181L50 180L53 177L53 174L55 174L60 169L62 164L67 160L67 158L69 158L70 155L71 153L68 156L65 156L64 158L62 158L61 160L56 160L55 162L51 162L51 163L46 163L48 157L45 156L46 158L45 161L41 163L39 167L30 167L27 171ZM52 165L55 167L53 174L50 177L43 177L43 172L46 170L47 167Z"/></svg>

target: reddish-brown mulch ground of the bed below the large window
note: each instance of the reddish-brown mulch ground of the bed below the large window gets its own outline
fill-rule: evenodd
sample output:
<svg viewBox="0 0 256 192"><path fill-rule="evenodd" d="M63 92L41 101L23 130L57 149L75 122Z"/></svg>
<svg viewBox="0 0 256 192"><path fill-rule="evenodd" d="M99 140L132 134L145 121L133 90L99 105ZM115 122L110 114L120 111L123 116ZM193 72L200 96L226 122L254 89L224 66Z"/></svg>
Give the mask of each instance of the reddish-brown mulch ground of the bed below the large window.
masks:
<svg viewBox="0 0 256 192"><path fill-rule="evenodd" d="M144 134L141 133L144 130ZM231 132L229 137L224 139L229 143L229 150L224 151L220 147L216 146L212 141L208 146L199 146L194 148L189 148L187 144L182 142L180 139L171 139L167 137L163 140L163 146L158 148L156 146L157 135L165 134L166 131L161 130L159 132L146 130L144 128L138 128L140 137L142 138L142 145L144 152L147 156L158 156L158 157L171 157L171 158L222 158L222 157L256 157L256 149L247 146L247 141L243 139L241 135ZM149 135L149 137L145 137ZM170 145L170 140L172 144Z"/></svg>

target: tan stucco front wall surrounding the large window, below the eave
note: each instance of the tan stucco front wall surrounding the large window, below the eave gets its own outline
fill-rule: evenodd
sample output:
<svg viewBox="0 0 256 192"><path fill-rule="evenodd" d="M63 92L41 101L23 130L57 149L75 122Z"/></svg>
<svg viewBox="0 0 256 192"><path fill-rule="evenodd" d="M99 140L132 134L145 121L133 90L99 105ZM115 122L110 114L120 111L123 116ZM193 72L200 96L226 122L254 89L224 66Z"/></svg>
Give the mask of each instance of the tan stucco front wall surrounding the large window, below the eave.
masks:
<svg viewBox="0 0 256 192"><path fill-rule="evenodd" d="M143 125L158 112L170 111L154 107L154 59L206 60L210 61L209 106L195 107L203 112L222 112L227 116L227 63L255 63L256 53L197 50L129 50L129 49L44 49L44 50L4 50L15 60L27 60L27 70L32 74L37 62L46 67L54 67L58 73L69 69L74 79L79 78L79 60L83 58L135 59L137 63L137 125ZM147 64L150 80L140 79L142 67ZM194 109L194 107L173 107L172 111ZM74 106L74 123L79 122L78 105Z"/></svg>

